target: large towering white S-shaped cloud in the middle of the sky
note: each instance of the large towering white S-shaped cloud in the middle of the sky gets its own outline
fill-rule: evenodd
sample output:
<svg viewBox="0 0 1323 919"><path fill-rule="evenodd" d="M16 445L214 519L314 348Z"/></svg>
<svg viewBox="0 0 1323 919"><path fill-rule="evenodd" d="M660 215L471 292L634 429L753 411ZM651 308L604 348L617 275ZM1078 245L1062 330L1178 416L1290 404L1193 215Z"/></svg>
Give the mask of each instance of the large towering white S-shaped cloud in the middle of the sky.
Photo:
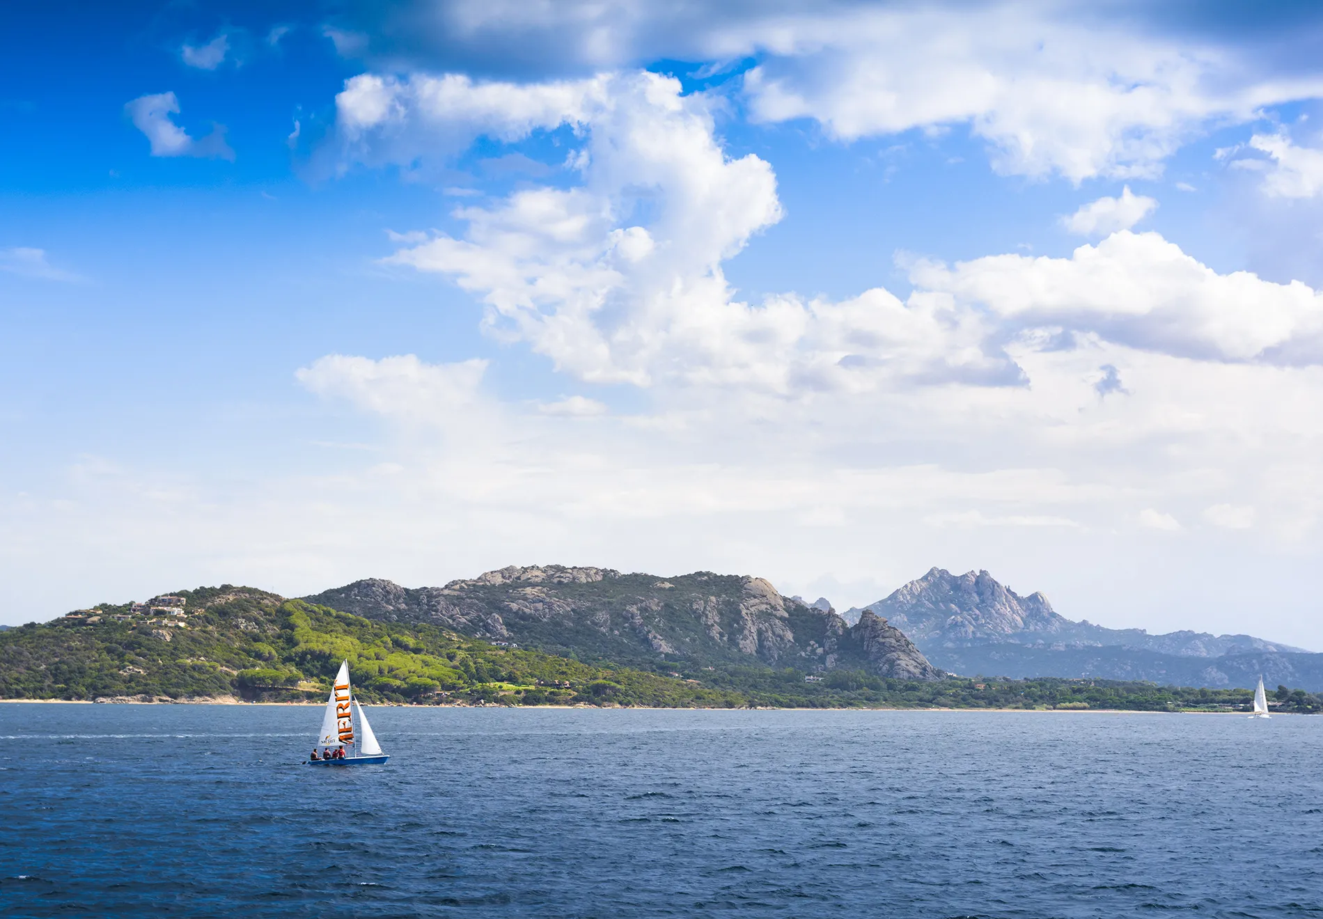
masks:
<svg viewBox="0 0 1323 919"><path fill-rule="evenodd" d="M462 239L437 235L386 259L456 276L488 304L487 327L593 382L659 381L798 394L878 378L1017 382L970 309L882 290L843 303L733 299L721 263L781 218L771 168L732 160L710 100L655 74L554 86L467 79L351 81L349 151L413 163L429 138L525 136L576 126L582 182L524 188L460 208ZM646 202L647 226L631 223Z"/></svg>

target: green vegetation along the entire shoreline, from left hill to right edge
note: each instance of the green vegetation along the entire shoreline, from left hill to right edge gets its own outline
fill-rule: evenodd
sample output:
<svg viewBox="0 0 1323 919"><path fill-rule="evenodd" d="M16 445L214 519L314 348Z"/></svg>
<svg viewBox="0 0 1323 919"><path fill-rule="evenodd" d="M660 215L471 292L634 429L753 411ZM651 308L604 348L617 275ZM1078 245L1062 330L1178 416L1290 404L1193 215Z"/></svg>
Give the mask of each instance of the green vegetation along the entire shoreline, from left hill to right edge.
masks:
<svg viewBox="0 0 1323 919"><path fill-rule="evenodd" d="M497 648L425 624L381 623L245 587L180 591L187 616L101 604L99 621L58 619L0 635L0 698L320 701L341 660L366 702L664 707L947 707L1248 710L1245 689L1102 680L888 680L864 670L663 661L656 672ZM1323 699L1281 686L1275 710Z"/></svg>

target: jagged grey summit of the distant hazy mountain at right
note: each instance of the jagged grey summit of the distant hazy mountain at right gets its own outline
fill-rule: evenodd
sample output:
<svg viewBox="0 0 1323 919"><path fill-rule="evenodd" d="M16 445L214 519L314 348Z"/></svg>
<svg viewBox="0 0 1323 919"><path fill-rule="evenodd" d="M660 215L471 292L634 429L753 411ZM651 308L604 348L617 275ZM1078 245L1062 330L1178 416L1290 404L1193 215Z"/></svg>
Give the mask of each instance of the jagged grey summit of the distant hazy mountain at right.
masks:
<svg viewBox="0 0 1323 919"><path fill-rule="evenodd" d="M1041 592L1020 596L987 571L955 575L939 567L868 607L918 637L941 633L980 639L1019 632L1058 632L1072 623Z"/></svg>

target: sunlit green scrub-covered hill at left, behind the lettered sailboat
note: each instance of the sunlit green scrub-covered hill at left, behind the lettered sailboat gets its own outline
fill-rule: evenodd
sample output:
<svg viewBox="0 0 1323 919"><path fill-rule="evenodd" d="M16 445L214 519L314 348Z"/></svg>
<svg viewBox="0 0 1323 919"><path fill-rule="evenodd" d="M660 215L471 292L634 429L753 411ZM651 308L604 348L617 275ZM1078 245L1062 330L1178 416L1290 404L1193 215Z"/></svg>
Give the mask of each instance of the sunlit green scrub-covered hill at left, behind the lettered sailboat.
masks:
<svg viewBox="0 0 1323 919"><path fill-rule="evenodd" d="M683 680L508 651L429 625L369 621L251 588L180 595L188 616L177 624L103 603L95 624L57 619L5 632L0 698L320 699L348 660L369 702L744 703Z"/></svg>

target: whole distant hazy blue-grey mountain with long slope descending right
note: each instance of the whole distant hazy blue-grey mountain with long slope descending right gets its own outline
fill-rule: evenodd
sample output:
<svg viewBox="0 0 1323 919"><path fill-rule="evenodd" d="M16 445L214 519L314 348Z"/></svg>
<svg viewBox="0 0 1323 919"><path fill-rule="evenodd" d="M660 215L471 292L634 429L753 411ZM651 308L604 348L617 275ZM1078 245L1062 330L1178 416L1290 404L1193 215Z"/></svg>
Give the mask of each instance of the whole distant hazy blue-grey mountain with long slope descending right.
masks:
<svg viewBox="0 0 1323 919"><path fill-rule="evenodd" d="M1150 635L1073 621L1056 612L1043 594L1020 596L987 571L954 575L934 567L845 616L865 611L885 616L929 660L954 673L1195 686L1253 685L1263 673L1266 680L1323 688L1323 655L1252 635Z"/></svg>

